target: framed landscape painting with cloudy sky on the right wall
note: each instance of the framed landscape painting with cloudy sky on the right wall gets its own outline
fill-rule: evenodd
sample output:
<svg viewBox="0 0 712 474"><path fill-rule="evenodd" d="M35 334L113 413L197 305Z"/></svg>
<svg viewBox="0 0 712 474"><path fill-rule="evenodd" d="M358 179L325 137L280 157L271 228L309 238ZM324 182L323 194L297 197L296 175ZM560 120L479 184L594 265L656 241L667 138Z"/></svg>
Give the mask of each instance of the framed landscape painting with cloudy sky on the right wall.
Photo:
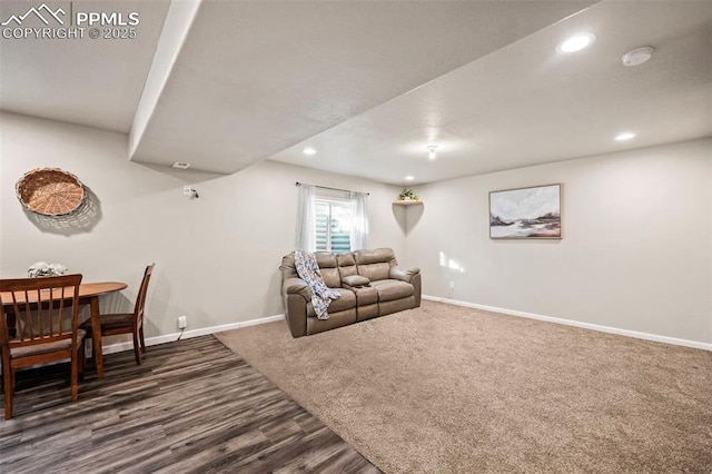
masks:
<svg viewBox="0 0 712 474"><path fill-rule="evenodd" d="M490 192L490 238L561 238L561 185Z"/></svg>

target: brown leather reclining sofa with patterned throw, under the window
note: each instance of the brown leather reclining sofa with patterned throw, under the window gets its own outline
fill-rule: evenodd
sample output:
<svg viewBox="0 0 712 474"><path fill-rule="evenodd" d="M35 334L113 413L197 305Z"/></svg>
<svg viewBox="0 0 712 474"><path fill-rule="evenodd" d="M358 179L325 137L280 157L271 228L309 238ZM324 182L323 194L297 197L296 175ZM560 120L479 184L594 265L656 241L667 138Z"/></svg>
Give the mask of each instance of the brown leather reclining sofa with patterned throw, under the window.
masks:
<svg viewBox="0 0 712 474"><path fill-rule="evenodd" d="M390 248L315 255L324 283L340 296L329 305L329 318L317 319L312 292L297 275L294 255L286 255L279 267L281 298L293 337L421 306L421 270L398 267Z"/></svg>

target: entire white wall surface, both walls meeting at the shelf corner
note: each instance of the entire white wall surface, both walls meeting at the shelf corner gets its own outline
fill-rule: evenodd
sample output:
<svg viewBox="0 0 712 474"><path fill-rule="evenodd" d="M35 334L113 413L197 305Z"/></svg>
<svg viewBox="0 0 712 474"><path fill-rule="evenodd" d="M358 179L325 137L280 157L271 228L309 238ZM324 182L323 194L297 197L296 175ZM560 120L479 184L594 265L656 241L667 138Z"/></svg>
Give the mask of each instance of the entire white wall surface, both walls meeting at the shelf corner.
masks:
<svg viewBox="0 0 712 474"><path fill-rule="evenodd" d="M419 266L425 294L712 343L712 139L421 186L424 206L405 208L392 206L397 187L269 161L231 176L146 167L128 161L126 135L86 127L2 113L0 134L0 276L59 261L127 282L102 300L127 309L156 261L148 336L176 333L184 314L197 329L283 312L277 267L294 246L299 180L369 191L369 247ZM23 210L14 182L36 167L76 174L95 215ZM491 190L550 182L564 185L562 240L488 238Z"/></svg>

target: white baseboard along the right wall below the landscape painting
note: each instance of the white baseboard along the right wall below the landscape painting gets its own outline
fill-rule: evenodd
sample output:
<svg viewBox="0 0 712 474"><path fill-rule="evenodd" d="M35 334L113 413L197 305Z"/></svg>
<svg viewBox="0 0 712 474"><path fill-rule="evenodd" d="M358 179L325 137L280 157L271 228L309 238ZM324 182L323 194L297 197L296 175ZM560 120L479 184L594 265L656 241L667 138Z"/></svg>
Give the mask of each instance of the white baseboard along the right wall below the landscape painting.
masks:
<svg viewBox="0 0 712 474"><path fill-rule="evenodd" d="M564 319L553 316L542 316L533 313L517 312L514 309L497 308L495 306L478 305L475 303L461 302L457 299L438 298L435 296L423 295L423 299L431 302L447 303L448 305L465 306L468 308L484 309L486 312L502 313L510 316L525 317L530 319L545 320L548 323L563 324L566 326L582 327L584 329L600 330L601 333L617 334L620 336L635 337L637 339L654 340L656 343L672 344L675 346L692 347L695 349L711 350L712 344L700 343L698 340L680 339L676 337L659 336L657 334L640 333L637 330L620 329L617 327L601 326L599 324L582 323L578 320Z"/></svg>

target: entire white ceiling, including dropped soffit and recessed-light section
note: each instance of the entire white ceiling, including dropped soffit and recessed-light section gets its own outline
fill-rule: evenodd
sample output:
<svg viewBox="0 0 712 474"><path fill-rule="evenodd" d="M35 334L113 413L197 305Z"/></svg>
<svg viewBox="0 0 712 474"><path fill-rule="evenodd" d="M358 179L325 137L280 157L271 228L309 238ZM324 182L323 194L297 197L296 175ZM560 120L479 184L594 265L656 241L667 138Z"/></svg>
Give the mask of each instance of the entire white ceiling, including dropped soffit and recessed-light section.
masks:
<svg viewBox="0 0 712 474"><path fill-rule="evenodd" d="M37 3L3 0L0 19ZM0 39L0 108L129 132L161 67L138 162L418 184L712 135L711 1L204 0L152 70L169 3L87 3L140 12L139 37ZM555 52L580 31L595 43ZM653 58L623 67L641 46Z"/></svg>

